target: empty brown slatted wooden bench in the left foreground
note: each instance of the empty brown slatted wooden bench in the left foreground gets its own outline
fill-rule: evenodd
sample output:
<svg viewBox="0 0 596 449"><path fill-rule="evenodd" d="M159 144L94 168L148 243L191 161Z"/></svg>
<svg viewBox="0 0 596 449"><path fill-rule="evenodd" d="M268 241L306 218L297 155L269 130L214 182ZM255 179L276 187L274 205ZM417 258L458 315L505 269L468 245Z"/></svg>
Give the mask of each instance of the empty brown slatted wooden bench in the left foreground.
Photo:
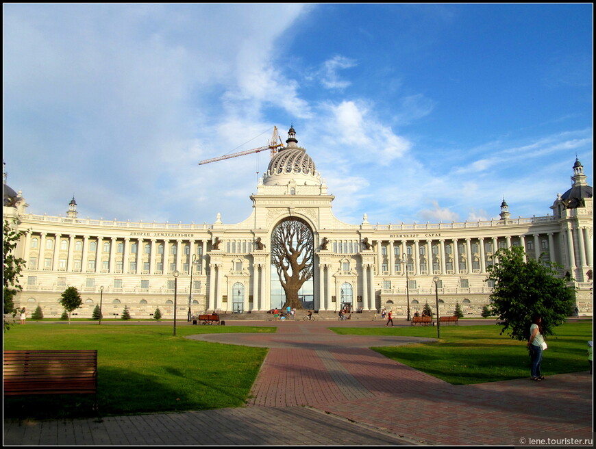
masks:
<svg viewBox="0 0 596 449"><path fill-rule="evenodd" d="M4 396L95 394L99 417L97 349L5 350L3 368Z"/></svg>

